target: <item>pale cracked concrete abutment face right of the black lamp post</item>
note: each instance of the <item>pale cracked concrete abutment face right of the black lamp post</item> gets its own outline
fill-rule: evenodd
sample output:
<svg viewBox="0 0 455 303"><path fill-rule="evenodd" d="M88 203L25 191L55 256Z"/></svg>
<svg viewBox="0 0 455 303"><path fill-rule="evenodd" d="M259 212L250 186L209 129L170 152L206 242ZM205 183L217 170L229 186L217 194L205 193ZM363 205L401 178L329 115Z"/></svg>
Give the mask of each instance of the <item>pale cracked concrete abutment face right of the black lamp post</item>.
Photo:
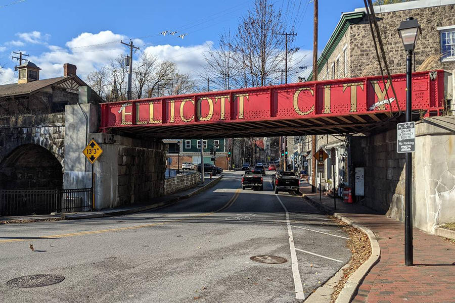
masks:
<svg viewBox="0 0 455 303"><path fill-rule="evenodd" d="M434 232L455 222L455 117L433 117L416 126L413 157L415 226Z"/></svg>

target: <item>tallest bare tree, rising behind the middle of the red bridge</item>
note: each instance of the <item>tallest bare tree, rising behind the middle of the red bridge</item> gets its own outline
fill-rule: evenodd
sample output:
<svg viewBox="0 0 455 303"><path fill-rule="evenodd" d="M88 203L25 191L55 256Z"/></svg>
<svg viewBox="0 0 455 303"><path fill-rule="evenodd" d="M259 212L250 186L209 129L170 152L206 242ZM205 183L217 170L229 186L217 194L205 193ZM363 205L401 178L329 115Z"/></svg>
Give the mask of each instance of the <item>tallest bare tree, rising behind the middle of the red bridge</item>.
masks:
<svg viewBox="0 0 455 303"><path fill-rule="evenodd" d="M219 38L219 49L210 49L206 56L207 73L217 76L230 74L229 80L237 87L263 86L276 78L285 65L285 36L292 31L286 26L281 10L270 0L256 0L252 10L240 18L236 34L224 32ZM288 36L292 45L294 36ZM288 51L288 60L298 48Z"/></svg>

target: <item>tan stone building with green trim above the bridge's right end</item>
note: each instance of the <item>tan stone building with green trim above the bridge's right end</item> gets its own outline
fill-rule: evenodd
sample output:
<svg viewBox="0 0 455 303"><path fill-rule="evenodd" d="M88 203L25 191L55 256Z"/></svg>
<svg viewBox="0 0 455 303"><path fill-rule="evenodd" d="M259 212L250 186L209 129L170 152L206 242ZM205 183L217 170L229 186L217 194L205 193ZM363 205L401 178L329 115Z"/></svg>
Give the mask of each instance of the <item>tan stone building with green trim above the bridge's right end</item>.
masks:
<svg viewBox="0 0 455 303"><path fill-rule="evenodd" d="M406 71L406 53L397 28L408 17L418 20L422 28L414 53L415 70L432 55L441 57L429 60L425 70L455 69L455 53L444 58L441 46L442 32L455 33L455 1L418 0L374 8L392 74ZM317 80L381 74L365 8L342 14L317 66Z"/></svg>

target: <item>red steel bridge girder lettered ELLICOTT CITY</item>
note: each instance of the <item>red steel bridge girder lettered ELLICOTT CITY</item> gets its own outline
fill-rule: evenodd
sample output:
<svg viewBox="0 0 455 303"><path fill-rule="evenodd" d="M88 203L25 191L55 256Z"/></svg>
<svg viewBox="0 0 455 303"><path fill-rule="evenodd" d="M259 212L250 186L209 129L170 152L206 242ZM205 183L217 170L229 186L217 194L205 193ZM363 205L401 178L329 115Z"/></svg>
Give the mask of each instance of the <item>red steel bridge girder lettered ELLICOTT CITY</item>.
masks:
<svg viewBox="0 0 455 303"><path fill-rule="evenodd" d="M384 87L382 78L375 76L105 103L101 105L101 130L162 126L172 132L177 126L249 121L273 121L275 128L281 128L280 120L323 125L317 120L323 117L328 125L333 125L331 117L349 121L342 116L365 121L359 115L377 121L375 114L397 112L397 102L405 111L405 74L393 75L392 83L397 100L390 83ZM443 89L443 71L413 73L413 110L441 107Z"/></svg>

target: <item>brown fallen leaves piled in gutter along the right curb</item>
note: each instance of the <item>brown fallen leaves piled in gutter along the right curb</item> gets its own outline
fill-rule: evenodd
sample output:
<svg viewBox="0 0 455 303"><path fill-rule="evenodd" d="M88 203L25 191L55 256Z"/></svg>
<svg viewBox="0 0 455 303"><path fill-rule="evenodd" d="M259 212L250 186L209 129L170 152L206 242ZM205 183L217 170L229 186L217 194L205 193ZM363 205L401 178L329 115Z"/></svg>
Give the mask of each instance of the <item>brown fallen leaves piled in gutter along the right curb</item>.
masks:
<svg viewBox="0 0 455 303"><path fill-rule="evenodd" d="M349 277L360 267L360 265L365 263L368 258L370 258L371 243L366 233L352 227L334 216L328 217L335 221L339 226L341 226L341 229L349 234L349 240L346 241L346 246L351 250L351 260L349 260L348 267L343 269L344 275L341 280L338 281L337 286L335 286L335 289L332 292L332 299L330 302L334 303Z"/></svg>

